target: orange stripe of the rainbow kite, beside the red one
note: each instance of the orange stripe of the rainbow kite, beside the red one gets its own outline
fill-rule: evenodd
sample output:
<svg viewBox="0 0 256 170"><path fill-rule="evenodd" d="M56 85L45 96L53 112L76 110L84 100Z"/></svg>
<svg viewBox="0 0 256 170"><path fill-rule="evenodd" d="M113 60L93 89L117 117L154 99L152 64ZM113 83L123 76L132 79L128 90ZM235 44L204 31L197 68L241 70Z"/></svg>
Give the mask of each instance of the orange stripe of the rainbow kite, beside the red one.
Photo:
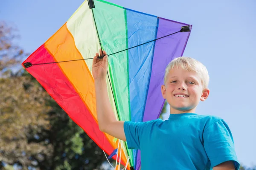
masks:
<svg viewBox="0 0 256 170"><path fill-rule="evenodd" d="M49 38L49 40L47 40L47 42L45 42L45 46L57 62L83 59L79 50L76 48L74 38L67 29L66 24L64 24L64 26L62 26L51 38ZM84 60L60 62L58 65L98 124L94 80ZM70 105L70 107L76 106ZM117 148L117 142L113 142L113 136L110 136L107 133L105 133L105 136L111 146L113 148ZM126 163L127 158L124 155L125 154L122 151L122 161L123 163Z"/></svg>

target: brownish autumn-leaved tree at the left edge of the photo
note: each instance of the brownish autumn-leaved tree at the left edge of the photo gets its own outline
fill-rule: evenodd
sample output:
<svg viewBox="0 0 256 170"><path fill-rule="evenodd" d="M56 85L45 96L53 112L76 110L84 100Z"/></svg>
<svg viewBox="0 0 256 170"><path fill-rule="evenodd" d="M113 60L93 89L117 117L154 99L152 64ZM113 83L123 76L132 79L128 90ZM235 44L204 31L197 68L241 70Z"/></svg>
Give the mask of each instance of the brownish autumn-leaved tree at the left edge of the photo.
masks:
<svg viewBox="0 0 256 170"><path fill-rule="evenodd" d="M44 114L47 108L43 107L49 95L28 77L15 76L9 70L25 55L14 44L14 31L0 22L0 164L16 163L26 169L27 164L33 164L31 154L50 150L43 145L28 145L26 139L28 129L49 125Z"/></svg>

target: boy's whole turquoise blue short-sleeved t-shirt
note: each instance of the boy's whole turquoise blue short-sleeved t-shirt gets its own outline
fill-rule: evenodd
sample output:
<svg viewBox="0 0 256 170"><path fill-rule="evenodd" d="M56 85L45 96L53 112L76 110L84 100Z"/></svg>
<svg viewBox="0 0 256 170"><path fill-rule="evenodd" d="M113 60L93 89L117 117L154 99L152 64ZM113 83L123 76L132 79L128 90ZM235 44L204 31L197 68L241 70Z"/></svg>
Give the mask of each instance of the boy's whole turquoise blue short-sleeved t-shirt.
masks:
<svg viewBox="0 0 256 170"><path fill-rule="evenodd" d="M169 119L124 123L129 149L141 150L141 170L211 170L236 157L232 133L223 119L196 113Z"/></svg>

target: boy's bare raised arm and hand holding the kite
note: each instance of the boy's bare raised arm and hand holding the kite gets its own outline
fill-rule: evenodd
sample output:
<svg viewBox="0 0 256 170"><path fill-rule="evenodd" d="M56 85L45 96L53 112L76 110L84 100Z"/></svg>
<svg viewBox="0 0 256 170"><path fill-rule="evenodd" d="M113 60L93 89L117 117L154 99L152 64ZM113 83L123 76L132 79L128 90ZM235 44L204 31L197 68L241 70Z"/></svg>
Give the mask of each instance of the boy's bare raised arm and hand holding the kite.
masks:
<svg viewBox="0 0 256 170"><path fill-rule="evenodd" d="M108 98L106 74L108 70L108 56L105 51L104 58L99 59L99 53L93 58L93 77L96 92L96 110L99 129L102 132L126 141L124 132L124 122L116 120L110 99ZM102 51L100 51L102 56Z"/></svg>

